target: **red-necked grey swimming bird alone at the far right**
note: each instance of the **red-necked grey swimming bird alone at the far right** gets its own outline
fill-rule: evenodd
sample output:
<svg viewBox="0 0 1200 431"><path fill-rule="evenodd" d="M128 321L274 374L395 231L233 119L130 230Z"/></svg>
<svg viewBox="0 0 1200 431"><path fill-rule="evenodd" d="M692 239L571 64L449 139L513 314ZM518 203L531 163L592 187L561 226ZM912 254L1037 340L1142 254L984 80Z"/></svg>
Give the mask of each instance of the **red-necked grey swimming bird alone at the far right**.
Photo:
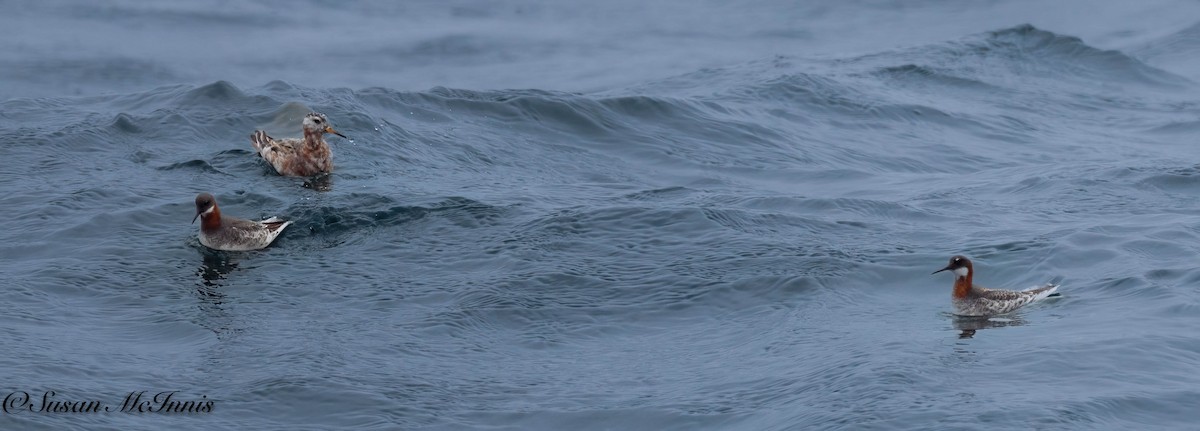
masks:
<svg viewBox="0 0 1200 431"><path fill-rule="evenodd" d="M950 258L946 268L934 271L954 271L954 310L959 316L995 316L1010 312L1046 297L1056 295L1058 285L1045 283L1027 291L989 289L974 285L974 268L965 256Z"/></svg>

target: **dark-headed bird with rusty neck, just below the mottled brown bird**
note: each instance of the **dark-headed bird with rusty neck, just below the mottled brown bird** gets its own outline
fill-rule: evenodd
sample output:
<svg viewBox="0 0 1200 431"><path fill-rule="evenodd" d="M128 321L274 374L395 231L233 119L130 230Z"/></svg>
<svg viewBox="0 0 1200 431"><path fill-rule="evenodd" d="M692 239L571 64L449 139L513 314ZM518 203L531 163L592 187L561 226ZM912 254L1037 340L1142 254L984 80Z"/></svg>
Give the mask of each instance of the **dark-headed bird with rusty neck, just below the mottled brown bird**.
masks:
<svg viewBox="0 0 1200 431"><path fill-rule="evenodd" d="M222 217L217 199L209 193L196 196L196 219L200 219L200 244L205 247L224 251L245 251L266 247L283 228L292 225L278 217L263 221L251 221L238 217Z"/></svg>

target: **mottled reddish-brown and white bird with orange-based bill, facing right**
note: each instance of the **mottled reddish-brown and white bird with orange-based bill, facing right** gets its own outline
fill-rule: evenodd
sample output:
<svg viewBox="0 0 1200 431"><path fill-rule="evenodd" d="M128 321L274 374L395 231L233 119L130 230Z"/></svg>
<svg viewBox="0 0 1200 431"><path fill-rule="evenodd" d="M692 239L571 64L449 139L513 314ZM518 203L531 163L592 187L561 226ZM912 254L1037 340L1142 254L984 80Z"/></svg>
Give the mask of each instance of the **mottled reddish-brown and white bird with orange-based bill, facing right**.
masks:
<svg viewBox="0 0 1200 431"><path fill-rule="evenodd" d="M334 154L324 136L334 133L346 138L346 134L330 127L325 114L316 112L305 115L301 126L304 138L275 139L266 136L266 132L256 130L250 134L250 143L280 175L312 176L332 172Z"/></svg>

